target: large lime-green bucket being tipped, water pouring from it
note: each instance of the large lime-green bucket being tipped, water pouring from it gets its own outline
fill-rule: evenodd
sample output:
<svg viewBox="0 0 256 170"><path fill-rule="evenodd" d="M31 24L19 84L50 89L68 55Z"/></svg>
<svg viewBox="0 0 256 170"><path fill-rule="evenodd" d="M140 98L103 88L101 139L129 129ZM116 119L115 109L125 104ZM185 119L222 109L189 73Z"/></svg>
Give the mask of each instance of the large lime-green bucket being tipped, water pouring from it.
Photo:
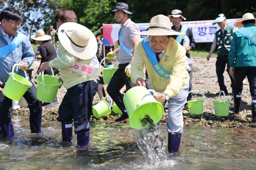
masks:
<svg viewBox="0 0 256 170"><path fill-rule="evenodd" d="M143 129L140 119L148 115L154 124L161 120L164 114L164 107L151 95L154 90L147 90L145 87L136 86L129 89L124 95L124 105L129 116L130 127Z"/></svg>

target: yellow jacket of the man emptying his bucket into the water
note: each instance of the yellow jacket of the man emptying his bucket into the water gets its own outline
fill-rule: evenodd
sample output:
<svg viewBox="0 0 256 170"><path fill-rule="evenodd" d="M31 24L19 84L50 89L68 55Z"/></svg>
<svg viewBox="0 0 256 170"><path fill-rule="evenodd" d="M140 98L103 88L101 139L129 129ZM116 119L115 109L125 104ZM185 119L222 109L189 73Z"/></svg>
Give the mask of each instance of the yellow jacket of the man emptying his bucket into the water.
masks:
<svg viewBox="0 0 256 170"><path fill-rule="evenodd" d="M134 59L132 60L131 66L132 83L136 84L138 78L144 78L143 69L145 65L151 88L156 92L166 93L170 97L174 97L182 87L185 87L189 83L189 75L186 70L185 48L176 42L176 40L170 38L159 63L171 74L170 78L161 77L156 73L140 40L134 49Z"/></svg>

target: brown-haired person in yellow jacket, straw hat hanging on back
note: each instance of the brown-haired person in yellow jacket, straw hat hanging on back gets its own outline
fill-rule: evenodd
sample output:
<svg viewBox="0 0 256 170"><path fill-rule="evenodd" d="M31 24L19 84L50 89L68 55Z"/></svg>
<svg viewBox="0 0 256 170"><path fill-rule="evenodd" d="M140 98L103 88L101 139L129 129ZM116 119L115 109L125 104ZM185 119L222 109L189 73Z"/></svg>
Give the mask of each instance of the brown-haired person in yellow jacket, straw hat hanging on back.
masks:
<svg viewBox="0 0 256 170"><path fill-rule="evenodd" d="M60 69L60 80L67 89L57 118L62 126L62 140L72 142L74 120L77 144L83 148L89 142L92 101L97 93L97 79L101 72L96 57L97 40L88 28L76 23L74 11L59 10L55 19L60 40L59 57L42 63L40 72L50 67Z"/></svg>

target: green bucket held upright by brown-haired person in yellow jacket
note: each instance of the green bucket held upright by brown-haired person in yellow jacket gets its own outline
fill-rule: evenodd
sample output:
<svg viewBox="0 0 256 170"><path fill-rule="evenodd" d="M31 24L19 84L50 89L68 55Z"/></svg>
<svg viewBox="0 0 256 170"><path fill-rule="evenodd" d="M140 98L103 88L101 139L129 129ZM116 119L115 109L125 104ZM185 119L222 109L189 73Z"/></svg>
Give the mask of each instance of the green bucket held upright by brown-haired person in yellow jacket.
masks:
<svg viewBox="0 0 256 170"><path fill-rule="evenodd" d="M43 71L42 75L36 77L36 81L36 98L46 103L53 102L56 98L59 87L62 85L62 82L59 82L58 77L54 76L53 70L52 75L44 75Z"/></svg>

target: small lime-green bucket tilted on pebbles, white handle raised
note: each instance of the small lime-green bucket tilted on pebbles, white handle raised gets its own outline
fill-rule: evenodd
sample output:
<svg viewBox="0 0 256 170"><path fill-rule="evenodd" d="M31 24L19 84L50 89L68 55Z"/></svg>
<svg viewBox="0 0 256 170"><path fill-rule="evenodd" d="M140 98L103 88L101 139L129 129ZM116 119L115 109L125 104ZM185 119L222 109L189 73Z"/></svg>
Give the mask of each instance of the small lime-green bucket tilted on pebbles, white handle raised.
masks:
<svg viewBox="0 0 256 170"><path fill-rule="evenodd" d="M108 102L102 99L99 103L94 105L92 107L92 113L93 115L99 119L100 117L104 117L106 115L109 115L111 113L111 106L112 106L112 99L109 96L106 96L106 98L110 98L111 104L108 105Z"/></svg>

